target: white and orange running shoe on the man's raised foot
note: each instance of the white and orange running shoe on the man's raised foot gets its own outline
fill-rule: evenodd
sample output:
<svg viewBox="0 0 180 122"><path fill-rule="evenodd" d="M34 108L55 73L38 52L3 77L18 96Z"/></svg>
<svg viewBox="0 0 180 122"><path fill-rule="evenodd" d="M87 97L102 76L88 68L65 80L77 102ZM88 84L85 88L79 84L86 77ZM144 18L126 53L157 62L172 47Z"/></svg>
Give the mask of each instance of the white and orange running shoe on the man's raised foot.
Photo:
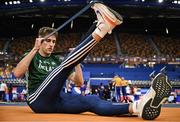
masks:
<svg viewBox="0 0 180 122"><path fill-rule="evenodd" d="M123 18L119 13L101 3L95 3L92 8L97 15L97 26L104 23L108 27L108 33L111 33L115 26L123 22Z"/></svg>

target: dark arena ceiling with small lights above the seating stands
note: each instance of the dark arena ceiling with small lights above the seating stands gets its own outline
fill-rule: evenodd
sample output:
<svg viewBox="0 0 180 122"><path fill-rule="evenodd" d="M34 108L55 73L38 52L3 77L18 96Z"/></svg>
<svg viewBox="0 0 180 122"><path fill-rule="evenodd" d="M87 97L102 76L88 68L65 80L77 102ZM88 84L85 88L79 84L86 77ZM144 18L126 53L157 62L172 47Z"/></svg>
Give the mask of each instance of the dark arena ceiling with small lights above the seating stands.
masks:
<svg viewBox="0 0 180 122"><path fill-rule="evenodd" d="M89 2L89 0L1 0L0 37L36 35L42 26L57 28ZM180 0L101 0L101 2L123 16L124 23L116 29L117 31L180 37ZM94 19L95 14L89 9L61 32L85 32Z"/></svg>

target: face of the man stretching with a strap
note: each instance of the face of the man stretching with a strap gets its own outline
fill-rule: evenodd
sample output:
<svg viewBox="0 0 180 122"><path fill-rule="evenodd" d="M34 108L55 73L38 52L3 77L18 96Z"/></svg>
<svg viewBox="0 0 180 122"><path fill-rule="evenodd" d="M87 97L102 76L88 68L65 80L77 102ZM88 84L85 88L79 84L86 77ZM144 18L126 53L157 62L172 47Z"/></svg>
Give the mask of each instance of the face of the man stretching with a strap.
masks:
<svg viewBox="0 0 180 122"><path fill-rule="evenodd" d="M43 40L40 46L40 50L45 55L50 55L54 50L55 44L56 44L56 36L52 35L48 39Z"/></svg>

